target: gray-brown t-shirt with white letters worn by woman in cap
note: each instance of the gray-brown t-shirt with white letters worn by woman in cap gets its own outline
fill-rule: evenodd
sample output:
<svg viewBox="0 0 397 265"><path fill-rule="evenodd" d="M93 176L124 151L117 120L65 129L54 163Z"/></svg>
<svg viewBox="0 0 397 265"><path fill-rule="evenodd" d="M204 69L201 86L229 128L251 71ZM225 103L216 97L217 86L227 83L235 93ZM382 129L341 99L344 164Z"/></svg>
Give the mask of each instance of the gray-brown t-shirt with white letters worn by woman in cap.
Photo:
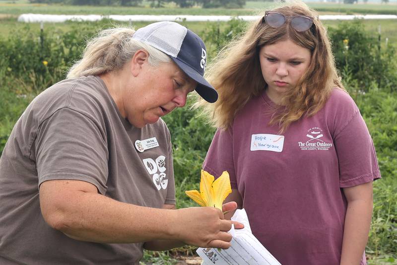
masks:
<svg viewBox="0 0 397 265"><path fill-rule="evenodd" d="M0 159L0 264L139 264L143 243L78 241L45 222L39 186L58 179L135 205L175 204L168 128L133 127L97 76L67 79L31 102Z"/></svg>

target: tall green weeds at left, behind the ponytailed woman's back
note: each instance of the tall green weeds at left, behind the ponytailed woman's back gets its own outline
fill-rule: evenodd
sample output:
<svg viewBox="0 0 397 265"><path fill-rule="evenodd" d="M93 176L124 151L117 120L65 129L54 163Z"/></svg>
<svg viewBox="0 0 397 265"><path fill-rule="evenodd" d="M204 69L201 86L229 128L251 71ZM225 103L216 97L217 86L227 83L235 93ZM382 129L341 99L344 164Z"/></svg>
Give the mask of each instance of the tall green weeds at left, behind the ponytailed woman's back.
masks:
<svg viewBox="0 0 397 265"><path fill-rule="evenodd" d="M65 79L67 69L78 60L86 40L98 29L112 27L109 20L71 23L66 32L46 26L32 30L26 24L7 38L0 37L1 68L17 80L22 93L40 92Z"/></svg>

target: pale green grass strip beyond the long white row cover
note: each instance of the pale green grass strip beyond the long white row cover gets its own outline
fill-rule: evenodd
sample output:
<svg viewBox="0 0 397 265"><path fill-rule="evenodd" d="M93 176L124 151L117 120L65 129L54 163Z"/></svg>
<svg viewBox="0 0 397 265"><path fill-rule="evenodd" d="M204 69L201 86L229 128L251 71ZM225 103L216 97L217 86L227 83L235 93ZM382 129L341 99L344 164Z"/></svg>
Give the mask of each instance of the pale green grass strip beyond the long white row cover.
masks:
<svg viewBox="0 0 397 265"><path fill-rule="evenodd" d="M336 4L336 3L308 3L320 13L379 13L397 14L397 4ZM31 4L26 0L0 0L0 14L17 16L22 13L41 14L190 14L190 15L251 15L262 12L274 6L273 2L247 1L244 8L178 8L173 3L167 3L163 8L150 8L148 2L143 2L140 7L121 6L76 6L59 4Z"/></svg>

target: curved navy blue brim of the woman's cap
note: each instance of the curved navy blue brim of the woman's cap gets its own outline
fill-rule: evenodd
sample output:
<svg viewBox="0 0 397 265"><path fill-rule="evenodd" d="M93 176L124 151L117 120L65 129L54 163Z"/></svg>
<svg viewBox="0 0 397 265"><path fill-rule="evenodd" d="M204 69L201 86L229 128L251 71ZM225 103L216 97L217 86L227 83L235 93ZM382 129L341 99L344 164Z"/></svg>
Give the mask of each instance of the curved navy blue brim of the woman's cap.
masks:
<svg viewBox="0 0 397 265"><path fill-rule="evenodd" d="M170 56L170 58L177 64L190 78L197 82L196 91L207 102L214 103L218 100L218 92L201 76L195 69L188 66L178 58Z"/></svg>

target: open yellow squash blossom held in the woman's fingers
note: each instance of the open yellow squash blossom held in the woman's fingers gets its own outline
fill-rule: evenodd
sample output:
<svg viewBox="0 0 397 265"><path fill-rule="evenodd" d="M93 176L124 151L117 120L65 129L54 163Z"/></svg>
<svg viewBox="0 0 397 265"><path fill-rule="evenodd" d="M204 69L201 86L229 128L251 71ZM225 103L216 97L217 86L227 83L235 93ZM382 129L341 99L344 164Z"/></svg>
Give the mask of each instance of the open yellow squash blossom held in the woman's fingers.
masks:
<svg viewBox="0 0 397 265"><path fill-rule="evenodd" d="M214 176L201 170L200 192L186 191L186 195L201 206L211 206L222 210L223 201L232 192L229 173L223 171L219 178L215 181L214 179Z"/></svg>

